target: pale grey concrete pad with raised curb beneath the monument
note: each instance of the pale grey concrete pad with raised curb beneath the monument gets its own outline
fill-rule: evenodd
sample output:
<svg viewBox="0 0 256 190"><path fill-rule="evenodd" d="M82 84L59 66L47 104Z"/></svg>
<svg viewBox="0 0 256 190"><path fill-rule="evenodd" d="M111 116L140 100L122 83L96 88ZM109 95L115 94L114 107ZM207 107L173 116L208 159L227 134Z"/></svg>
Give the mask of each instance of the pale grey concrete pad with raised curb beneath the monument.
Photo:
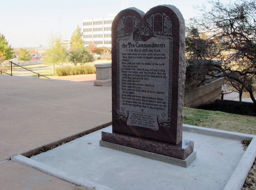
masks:
<svg viewBox="0 0 256 190"><path fill-rule="evenodd" d="M26 159L26 164L43 163L49 172L58 169L78 183L93 182L95 189L240 190L256 156L254 135L184 125L183 138L193 140L197 152L184 168L100 147L101 131ZM249 138L244 151L240 139Z"/></svg>

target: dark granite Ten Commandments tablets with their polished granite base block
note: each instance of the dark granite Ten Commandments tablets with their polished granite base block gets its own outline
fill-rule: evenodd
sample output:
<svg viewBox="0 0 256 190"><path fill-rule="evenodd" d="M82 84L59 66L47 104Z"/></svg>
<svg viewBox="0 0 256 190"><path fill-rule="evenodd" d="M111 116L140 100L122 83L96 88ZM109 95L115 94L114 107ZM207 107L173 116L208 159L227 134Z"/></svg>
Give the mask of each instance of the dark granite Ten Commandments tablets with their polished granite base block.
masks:
<svg viewBox="0 0 256 190"><path fill-rule="evenodd" d="M112 23L112 132L102 132L101 144L186 159L194 142L182 140L185 71L185 21L175 6L118 13Z"/></svg>

